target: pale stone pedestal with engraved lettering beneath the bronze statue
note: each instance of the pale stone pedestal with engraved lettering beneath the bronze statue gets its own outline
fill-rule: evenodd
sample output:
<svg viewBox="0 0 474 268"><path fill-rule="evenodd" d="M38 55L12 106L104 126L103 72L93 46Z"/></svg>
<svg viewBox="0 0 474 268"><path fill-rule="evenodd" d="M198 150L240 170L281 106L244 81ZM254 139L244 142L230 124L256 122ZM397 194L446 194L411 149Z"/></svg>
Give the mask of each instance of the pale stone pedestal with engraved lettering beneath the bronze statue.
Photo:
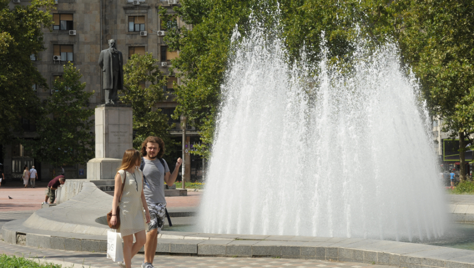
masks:
<svg viewBox="0 0 474 268"><path fill-rule="evenodd" d="M131 107L103 104L95 108L95 158L87 162L88 180L113 180L123 153L133 148Z"/></svg>

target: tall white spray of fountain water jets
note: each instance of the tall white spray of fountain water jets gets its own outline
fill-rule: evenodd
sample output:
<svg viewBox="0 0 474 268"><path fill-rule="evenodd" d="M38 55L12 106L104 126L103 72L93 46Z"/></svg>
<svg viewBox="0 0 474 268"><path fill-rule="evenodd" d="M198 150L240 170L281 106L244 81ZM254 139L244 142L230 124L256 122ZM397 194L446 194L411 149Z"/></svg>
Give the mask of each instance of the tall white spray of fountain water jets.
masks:
<svg viewBox="0 0 474 268"><path fill-rule="evenodd" d="M409 240L443 234L431 120L397 45L349 64L288 63L254 27L232 37L199 224L221 234ZM278 35L273 35L278 36ZM272 39L272 40L270 40Z"/></svg>

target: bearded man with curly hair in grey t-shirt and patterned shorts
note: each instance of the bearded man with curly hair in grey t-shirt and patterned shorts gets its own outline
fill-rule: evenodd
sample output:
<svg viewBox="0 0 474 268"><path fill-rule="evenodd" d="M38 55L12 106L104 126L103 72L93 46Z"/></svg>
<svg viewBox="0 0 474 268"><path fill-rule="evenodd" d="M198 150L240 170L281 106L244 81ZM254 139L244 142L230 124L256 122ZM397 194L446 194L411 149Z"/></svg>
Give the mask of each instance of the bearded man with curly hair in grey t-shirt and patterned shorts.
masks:
<svg viewBox="0 0 474 268"><path fill-rule="evenodd" d="M165 153L165 142L159 137L147 137L141 148L142 164L140 169L143 171L145 180L146 203L150 211L151 221L148 223L145 243L145 260L142 268L153 268L153 259L156 252L157 234L161 232L165 220L165 185L172 186L178 176L179 166L182 159L178 158L173 174L170 174L168 164L162 158Z"/></svg>

